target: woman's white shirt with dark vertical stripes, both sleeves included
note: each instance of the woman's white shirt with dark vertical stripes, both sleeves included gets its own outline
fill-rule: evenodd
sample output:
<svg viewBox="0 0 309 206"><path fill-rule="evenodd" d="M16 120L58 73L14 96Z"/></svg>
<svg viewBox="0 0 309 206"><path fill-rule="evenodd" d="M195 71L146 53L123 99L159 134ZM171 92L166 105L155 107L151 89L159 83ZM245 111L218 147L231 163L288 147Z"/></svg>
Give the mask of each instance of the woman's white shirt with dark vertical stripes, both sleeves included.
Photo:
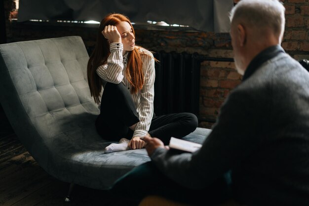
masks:
<svg viewBox="0 0 309 206"><path fill-rule="evenodd" d="M130 89L131 85L126 79L124 69L127 66L128 52L122 56L122 43L111 43L110 51L111 54L107 59L107 64L99 66L96 70L99 77L103 80L103 88L106 82L122 82ZM145 55L141 55L143 61L144 85L136 94L131 94L140 120L135 127L133 137L143 137L148 133L154 115L154 56L146 49L141 48L139 51L140 53L145 53Z"/></svg>

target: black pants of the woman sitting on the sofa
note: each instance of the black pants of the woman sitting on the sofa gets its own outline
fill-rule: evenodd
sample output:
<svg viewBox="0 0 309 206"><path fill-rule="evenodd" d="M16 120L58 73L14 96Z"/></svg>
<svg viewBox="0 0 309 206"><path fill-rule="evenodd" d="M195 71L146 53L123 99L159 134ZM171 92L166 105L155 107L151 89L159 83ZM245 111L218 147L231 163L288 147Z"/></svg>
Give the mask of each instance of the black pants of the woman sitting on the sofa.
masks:
<svg viewBox="0 0 309 206"><path fill-rule="evenodd" d="M101 113L96 120L98 133L106 140L131 139L129 126L139 122L130 91L123 83L107 83L101 100ZM171 136L184 137L197 127L197 118L191 113L177 113L154 117L149 134L168 144Z"/></svg>

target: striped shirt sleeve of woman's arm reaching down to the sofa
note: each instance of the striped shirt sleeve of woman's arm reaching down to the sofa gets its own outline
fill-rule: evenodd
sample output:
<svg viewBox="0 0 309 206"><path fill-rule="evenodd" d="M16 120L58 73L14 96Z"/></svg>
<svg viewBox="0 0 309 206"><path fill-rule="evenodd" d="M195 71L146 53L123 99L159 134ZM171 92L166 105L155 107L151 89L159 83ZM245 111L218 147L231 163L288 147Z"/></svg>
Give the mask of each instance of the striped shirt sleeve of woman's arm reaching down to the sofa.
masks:
<svg viewBox="0 0 309 206"><path fill-rule="evenodd" d="M140 102L137 110L139 111L140 122L137 123L133 136L143 137L148 133L154 115L154 58L152 53L142 55L143 67L146 70L144 85L141 90Z"/></svg>

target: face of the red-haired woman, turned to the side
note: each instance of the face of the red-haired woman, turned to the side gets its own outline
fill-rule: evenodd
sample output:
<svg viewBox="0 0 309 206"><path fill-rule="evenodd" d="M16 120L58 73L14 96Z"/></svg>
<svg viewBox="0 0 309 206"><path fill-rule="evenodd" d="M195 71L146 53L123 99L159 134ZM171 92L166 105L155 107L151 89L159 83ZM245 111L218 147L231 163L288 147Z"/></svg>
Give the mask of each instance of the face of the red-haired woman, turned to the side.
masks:
<svg viewBox="0 0 309 206"><path fill-rule="evenodd" d="M121 36L123 50L132 51L135 46L135 37L131 25L126 21L122 21L116 27Z"/></svg>

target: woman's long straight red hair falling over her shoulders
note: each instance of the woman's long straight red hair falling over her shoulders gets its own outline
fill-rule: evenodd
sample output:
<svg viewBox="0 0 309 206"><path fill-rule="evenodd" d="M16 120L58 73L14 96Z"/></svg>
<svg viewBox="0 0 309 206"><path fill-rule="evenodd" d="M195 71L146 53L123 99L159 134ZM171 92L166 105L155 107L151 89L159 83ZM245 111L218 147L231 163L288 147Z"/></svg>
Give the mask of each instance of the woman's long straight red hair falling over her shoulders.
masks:
<svg viewBox="0 0 309 206"><path fill-rule="evenodd" d="M102 19L98 33L97 41L94 47L92 54L90 55L88 65L87 65L87 78L88 84L90 87L91 96L93 96L94 101L100 103L100 92L102 90L102 80L97 75L96 69L105 64L107 58L110 55L110 44L107 39L102 35L102 31L107 25L116 26L122 21L126 21L131 25L133 35L135 37L135 32L133 26L128 17L122 14L109 14L104 19ZM127 80L131 84L131 93L137 93L143 88L144 85L144 74L143 74L143 62L141 54L138 51L140 47L135 47L132 51L129 51L128 54L128 63L125 68L125 75Z"/></svg>

